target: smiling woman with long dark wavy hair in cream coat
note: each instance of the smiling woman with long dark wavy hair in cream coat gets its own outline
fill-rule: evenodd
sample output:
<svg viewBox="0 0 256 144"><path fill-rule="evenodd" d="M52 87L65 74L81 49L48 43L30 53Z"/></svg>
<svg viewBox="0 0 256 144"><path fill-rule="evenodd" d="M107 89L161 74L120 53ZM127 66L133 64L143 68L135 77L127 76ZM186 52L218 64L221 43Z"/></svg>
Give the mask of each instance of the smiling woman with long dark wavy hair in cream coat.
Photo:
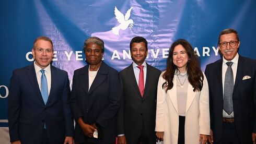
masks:
<svg viewBox="0 0 256 144"><path fill-rule="evenodd" d="M207 80L186 40L169 50L167 69L158 81L156 136L166 144L206 143L210 135Z"/></svg>

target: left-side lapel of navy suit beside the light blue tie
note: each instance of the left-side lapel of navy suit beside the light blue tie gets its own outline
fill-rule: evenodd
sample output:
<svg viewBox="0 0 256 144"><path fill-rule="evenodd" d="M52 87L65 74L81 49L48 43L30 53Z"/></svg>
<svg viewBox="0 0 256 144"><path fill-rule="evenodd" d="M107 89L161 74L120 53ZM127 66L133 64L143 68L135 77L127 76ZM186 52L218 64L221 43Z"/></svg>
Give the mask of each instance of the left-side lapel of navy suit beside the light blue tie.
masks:
<svg viewBox="0 0 256 144"><path fill-rule="evenodd" d="M38 98L42 101L42 103L44 103L40 89L39 89L38 81L37 81L36 70L34 70L34 64L28 66L27 75L28 75L28 78L31 82L31 85L32 85L34 91L38 95Z"/></svg>

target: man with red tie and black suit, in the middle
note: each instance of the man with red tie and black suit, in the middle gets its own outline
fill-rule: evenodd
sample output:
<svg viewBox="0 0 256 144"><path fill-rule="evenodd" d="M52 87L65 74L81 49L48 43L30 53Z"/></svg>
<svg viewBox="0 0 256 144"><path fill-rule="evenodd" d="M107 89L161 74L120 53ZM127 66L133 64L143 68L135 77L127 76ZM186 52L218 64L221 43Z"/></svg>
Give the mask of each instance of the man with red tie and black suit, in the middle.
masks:
<svg viewBox="0 0 256 144"><path fill-rule="evenodd" d="M119 72L121 109L118 143L156 143L157 83L161 71L145 62L147 41L134 37L130 43L133 63Z"/></svg>

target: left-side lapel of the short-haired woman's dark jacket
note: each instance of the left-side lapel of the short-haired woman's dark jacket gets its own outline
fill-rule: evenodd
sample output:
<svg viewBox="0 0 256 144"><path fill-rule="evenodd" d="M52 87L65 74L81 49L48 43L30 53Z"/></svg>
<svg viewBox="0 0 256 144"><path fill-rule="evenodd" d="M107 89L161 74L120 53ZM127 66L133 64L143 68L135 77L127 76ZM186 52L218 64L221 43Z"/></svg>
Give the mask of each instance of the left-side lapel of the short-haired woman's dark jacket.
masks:
<svg viewBox="0 0 256 144"><path fill-rule="evenodd" d="M80 85L83 87L84 91L88 94L88 88L89 88L89 74L88 74L89 65L84 66L81 69L81 72L79 74L79 82Z"/></svg>

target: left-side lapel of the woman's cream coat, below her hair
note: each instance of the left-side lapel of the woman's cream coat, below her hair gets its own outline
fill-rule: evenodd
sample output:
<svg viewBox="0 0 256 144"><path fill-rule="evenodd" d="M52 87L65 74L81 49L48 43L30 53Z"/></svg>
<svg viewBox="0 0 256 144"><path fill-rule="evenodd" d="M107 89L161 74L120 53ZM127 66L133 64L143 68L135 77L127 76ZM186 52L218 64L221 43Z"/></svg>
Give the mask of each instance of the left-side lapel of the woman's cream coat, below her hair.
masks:
<svg viewBox="0 0 256 144"><path fill-rule="evenodd" d="M170 97L171 103L173 104L177 114L179 113L178 111L178 100L177 100L177 83L176 83L176 75L173 77L173 87L172 89L168 90L168 95Z"/></svg>

